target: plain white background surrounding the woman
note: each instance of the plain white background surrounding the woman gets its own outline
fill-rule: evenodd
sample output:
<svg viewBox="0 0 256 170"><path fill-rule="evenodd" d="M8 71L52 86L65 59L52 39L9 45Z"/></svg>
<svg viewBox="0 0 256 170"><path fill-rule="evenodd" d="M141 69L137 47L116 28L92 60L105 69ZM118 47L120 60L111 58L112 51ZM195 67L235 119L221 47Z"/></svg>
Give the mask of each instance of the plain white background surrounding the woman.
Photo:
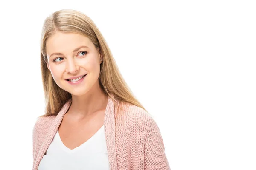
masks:
<svg viewBox="0 0 256 170"><path fill-rule="evenodd" d="M32 127L44 114L41 28L67 8L105 37L172 170L256 170L253 0L1 1L1 170L32 169Z"/></svg>

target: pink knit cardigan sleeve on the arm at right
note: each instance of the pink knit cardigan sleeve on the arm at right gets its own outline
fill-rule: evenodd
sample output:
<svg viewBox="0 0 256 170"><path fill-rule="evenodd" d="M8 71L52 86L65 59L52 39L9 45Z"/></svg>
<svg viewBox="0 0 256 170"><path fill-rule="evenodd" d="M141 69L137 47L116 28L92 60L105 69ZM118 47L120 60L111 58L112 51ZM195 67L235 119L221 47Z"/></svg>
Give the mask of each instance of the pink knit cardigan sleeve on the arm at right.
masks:
<svg viewBox="0 0 256 170"><path fill-rule="evenodd" d="M145 142L145 170L171 170L164 151L160 129L153 118L149 121Z"/></svg>

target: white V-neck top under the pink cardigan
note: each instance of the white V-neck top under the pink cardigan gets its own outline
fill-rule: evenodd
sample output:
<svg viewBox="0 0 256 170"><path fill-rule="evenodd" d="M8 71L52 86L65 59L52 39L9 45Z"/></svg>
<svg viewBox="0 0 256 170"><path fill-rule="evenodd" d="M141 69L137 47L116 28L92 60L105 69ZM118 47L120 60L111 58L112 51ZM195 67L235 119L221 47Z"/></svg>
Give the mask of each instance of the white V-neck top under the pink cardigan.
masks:
<svg viewBox="0 0 256 170"><path fill-rule="evenodd" d="M109 170L104 125L72 150L63 144L57 130L38 170Z"/></svg>

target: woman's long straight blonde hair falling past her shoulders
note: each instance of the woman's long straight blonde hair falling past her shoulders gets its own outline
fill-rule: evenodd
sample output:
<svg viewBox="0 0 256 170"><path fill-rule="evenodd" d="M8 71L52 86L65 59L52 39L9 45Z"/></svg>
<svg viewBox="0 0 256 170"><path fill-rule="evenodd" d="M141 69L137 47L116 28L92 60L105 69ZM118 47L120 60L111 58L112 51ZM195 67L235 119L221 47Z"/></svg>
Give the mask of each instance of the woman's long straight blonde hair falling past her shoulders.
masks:
<svg viewBox="0 0 256 170"><path fill-rule="evenodd" d="M117 99L120 102L136 105L146 111L122 78L105 39L93 21L79 11L62 9L54 12L44 20L41 34L41 74L46 102L45 114L42 116L57 115L62 106L71 98L69 92L61 89L55 83L51 72L47 68L47 39L57 31L72 32L88 37L103 57L99 74L99 84L102 91L111 97L115 105ZM111 94L115 99L112 98Z"/></svg>

